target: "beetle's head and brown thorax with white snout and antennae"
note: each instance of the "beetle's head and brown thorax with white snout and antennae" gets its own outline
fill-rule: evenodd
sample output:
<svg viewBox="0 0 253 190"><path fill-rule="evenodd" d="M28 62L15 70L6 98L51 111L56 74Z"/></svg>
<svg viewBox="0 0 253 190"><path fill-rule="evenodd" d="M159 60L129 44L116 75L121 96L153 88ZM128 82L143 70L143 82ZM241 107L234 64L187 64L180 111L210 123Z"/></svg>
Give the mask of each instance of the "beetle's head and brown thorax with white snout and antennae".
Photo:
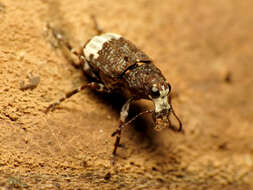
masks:
<svg viewBox="0 0 253 190"><path fill-rule="evenodd" d="M136 97L152 100L155 109L142 112L136 117L144 113L153 113L156 130L169 127L175 131L180 131L182 129L182 123L174 113L171 105L170 84L166 82L161 71L153 64L140 62L137 65L137 67L129 69L124 73L127 86ZM179 123L179 127L177 128L171 125L169 120L171 113Z"/></svg>

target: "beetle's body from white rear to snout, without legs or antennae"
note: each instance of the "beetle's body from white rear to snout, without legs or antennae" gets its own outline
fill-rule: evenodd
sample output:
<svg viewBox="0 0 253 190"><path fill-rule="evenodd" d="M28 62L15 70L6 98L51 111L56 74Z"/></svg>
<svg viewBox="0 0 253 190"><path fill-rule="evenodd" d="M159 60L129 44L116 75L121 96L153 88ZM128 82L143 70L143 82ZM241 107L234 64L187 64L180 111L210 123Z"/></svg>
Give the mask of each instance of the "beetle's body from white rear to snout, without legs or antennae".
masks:
<svg viewBox="0 0 253 190"><path fill-rule="evenodd" d="M171 108L170 85L151 59L133 43L114 33L95 36L83 48L83 61L83 70L107 90L128 91L135 100L153 100L155 119L167 125L164 121ZM156 128L160 129L161 125L157 124Z"/></svg>

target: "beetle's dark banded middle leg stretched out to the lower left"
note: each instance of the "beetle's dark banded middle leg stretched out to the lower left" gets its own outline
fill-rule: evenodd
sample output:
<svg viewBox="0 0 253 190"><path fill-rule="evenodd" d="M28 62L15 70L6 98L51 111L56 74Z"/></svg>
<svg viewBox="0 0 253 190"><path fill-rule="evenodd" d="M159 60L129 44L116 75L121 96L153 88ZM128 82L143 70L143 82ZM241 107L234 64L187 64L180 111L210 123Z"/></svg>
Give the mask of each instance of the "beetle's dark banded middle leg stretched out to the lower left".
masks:
<svg viewBox="0 0 253 190"><path fill-rule="evenodd" d="M64 97L60 98L60 99L59 99L58 101L56 101L55 103L50 104L50 105L47 107L45 113L48 113L50 110L53 110L53 109L54 109L57 105L59 105L61 102L63 102L64 100L70 98L71 96L77 94L78 92L80 92L81 90L84 90L84 89L86 89L86 88L91 88L91 89L94 89L94 90L96 90L96 91L98 91L98 92L107 92L107 93L110 92L110 90L107 89L102 83L90 82L90 83L88 83L88 84L83 84L82 86L80 86L80 87L78 87L78 88L76 88L76 89L74 89L74 90L72 90L72 91L66 93Z"/></svg>

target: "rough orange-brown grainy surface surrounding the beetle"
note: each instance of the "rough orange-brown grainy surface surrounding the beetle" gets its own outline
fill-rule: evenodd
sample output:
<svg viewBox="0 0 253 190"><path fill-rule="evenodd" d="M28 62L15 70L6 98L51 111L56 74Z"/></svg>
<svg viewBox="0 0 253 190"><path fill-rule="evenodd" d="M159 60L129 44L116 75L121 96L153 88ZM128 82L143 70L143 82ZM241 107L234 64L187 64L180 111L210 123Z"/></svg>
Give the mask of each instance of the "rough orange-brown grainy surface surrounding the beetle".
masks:
<svg viewBox="0 0 253 190"><path fill-rule="evenodd" d="M252 7L251 0L2 0L1 189L253 189ZM153 58L184 123L184 134L157 133L149 118L125 128L109 180L124 100L85 90L43 113L86 82L46 26L78 49L96 34L91 15ZM142 101L131 113L148 107Z"/></svg>

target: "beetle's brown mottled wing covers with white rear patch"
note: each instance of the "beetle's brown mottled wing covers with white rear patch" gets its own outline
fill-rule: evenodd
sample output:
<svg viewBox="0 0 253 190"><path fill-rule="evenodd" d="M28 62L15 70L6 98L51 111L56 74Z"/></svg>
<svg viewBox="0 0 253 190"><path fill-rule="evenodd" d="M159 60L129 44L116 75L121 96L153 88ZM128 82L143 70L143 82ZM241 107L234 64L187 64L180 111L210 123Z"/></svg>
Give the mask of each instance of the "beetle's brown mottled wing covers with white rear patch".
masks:
<svg viewBox="0 0 253 190"><path fill-rule="evenodd" d="M126 82L125 73L136 63L151 62L149 57L130 41L113 33L95 36L89 40L83 48L83 56L83 70L87 71L89 68L94 74L91 77L95 76L110 90L122 87Z"/></svg>

